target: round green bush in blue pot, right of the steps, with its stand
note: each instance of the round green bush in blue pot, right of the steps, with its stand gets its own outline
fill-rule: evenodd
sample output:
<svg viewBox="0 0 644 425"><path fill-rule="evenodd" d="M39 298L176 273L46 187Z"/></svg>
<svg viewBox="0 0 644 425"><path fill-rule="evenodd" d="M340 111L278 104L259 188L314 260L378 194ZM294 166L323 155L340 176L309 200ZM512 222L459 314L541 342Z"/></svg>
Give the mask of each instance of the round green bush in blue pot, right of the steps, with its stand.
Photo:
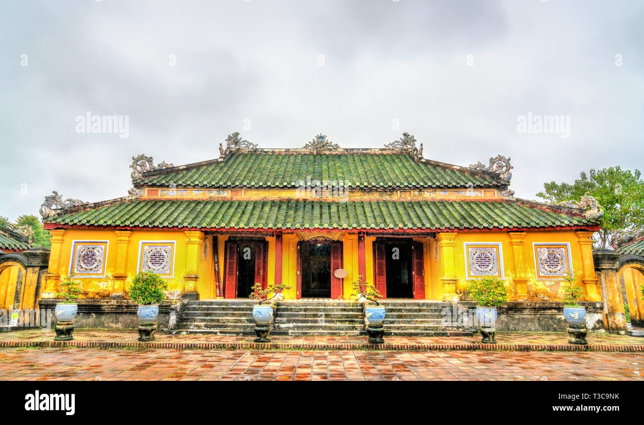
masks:
<svg viewBox="0 0 644 425"><path fill-rule="evenodd" d="M494 276L472 281L468 286L468 294L477 303L478 330L481 342L496 344L497 307L507 302L506 285Z"/></svg>

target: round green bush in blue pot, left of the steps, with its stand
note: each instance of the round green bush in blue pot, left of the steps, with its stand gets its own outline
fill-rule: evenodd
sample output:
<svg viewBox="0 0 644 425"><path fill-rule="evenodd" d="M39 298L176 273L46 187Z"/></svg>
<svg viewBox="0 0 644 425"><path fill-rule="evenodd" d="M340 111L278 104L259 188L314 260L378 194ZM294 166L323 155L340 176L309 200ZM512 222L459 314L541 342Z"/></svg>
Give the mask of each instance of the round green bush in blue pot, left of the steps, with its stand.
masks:
<svg viewBox="0 0 644 425"><path fill-rule="evenodd" d="M155 341L158 304L166 299L166 290L166 281L151 270L138 273L129 286L129 297L138 304L138 341Z"/></svg>

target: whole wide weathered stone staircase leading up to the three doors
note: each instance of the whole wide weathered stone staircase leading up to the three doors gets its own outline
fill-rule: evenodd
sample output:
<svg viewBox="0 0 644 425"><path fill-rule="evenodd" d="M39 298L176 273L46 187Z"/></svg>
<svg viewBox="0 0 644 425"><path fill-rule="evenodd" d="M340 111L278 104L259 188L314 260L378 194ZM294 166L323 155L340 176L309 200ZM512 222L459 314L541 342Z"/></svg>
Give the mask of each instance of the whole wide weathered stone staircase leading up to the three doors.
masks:
<svg viewBox="0 0 644 425"><path fill-rule="evenodd" d="M188 301L171 334L254 335L251 300ZM442 326L450 303L380 301L386 308L384 335L409 337L469 336ZM357 302L336 300L279 301L271 335L366 335L363 310Z"/></svg>

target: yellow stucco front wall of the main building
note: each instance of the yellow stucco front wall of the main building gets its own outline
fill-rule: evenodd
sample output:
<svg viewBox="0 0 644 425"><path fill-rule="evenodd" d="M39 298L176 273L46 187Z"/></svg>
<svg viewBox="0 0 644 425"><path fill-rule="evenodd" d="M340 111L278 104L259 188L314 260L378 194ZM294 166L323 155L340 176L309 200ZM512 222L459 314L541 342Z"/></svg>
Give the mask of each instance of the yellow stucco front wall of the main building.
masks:
<svg viewBox="0 0 644 425"><path fill-rule="evenodd" d="M57 231L54 231L57 232ZM119 275L119 264L117 264L119 243L115 230L100 229L74 229L70 228L60 236L60 251L53 246L50 257L49 272L55 276L59 282L70 272L70 262L72 255L73 241L108 241L108 255L106 259L106 276L102 278L82 278L75 277L77 281L82 282L82 288L86 290L88 298L107 298L110 293L118 291L118 279L115 282L114 275ZM167 278L169 290L180 293L194 288L198 291L202 299L211 299L216 297L215 279L214 279L214 255L211 235L204 235L204 232L184 232L184 230L132 230L129 238L121 236L121 247L126 246L124 254L124 287L128 288L134 275L137 273L139 261L140 242L142 241L175 241L175 259L173 277ZM125 238L126 244L122 242ZM450 239L451 238L451 239ZM208 253L204 258L203 242L204 239L208 244ZM227 235L218 236L218 255L220 279L223 282L224 270L224 243L228 239ZM269 242L267 281L269 284L274 283L275 276L275 238L267 237ZM513 239L507 232L455 232L451 233L448 239L442 239L444 242L439 243L437 239L431 237L415 237L415 241L421 242L424 250L425 266L425 296L428 299L443 299L446 296L446 288L453 285L457 290L466 288L466 255L464 244L466 242L500 242L502 247L502 260L504 265L504 275L507 287L515 289L515 279L517 279L517 268L515 263L516 250L520 250L523 255L524 264L524 281L527 284L527 297L529 299L560 299L559 287L561 281L538 281L535 272L535 260L533 243L549 242L561 243L567 242L570 245L572 257L572 266L575 276L578 278L578 284L583 286L584 282L592 282L594 279L594 270L588 267L588 259L582 254L582 244L580 244L580 235L574 230L553 230L553 231L534 231L526 232L522 237L522 244L512 243ZM439 241L441 238L439 237ZM189 242L192 241L192 242ZM373 244L375 237L365 238L365 280L373 282L374 264L373 264ZM447 241L447 242L445 242ZM450 242L451 241L451 242ZM284 296L286 299L294 299L296 294L296 270L297 270L297 246L299 237L296 233L283 233L283 283L291 286L286 290ZM357 250L357 232L344 233L341 236L343 242L343 268L348 272L344 279L344 296L349 299L352 293L351 283L357 279L358 275L358 250ZM193 248L189 249L190 244ZM435 247L439 246L438 255L435 256ZM196 247L196 253L195 253ZM122 248L125 249L125 248ZM448 261L453 255L453 262ZM592 264L592 259L590 260ZM450 275L451 274L451 275ZM191 277L192 276L192 277ZM188 277L189 279L186 279ZM5 301L6 287L5 273L0 276L0 301ZM585 281L583 280L585 279ZM521 282L521 277L518 277ZM455 283L454 283L455 282ZM191 286L192 285L192 286ZM223 286L223 283L222 283ZM57 289L57 288L49 288ZM458 292L458 291L457 291ZM4 298L3 298L4 294ZM450 295L450 294L447 294ZM451 295L450 295L451 296ZM525 299L525 297L524 297Z"/></svg>

